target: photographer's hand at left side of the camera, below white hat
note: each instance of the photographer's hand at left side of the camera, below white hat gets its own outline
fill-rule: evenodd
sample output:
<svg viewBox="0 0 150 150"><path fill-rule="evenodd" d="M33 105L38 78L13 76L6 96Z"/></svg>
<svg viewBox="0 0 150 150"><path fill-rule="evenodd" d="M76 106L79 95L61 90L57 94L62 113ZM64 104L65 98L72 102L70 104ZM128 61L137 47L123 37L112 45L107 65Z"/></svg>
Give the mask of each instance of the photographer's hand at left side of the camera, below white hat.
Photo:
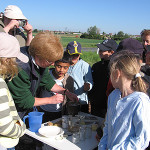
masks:
<svg viewBox="0 0 150 150"><path fill-rule="evenodd" d="M19 22L15 19L12 19L8 25L6 25L4 27L4 31L6 33L8 33L11 29L13 29L14 27L18 28L19 27Z"/></svg>

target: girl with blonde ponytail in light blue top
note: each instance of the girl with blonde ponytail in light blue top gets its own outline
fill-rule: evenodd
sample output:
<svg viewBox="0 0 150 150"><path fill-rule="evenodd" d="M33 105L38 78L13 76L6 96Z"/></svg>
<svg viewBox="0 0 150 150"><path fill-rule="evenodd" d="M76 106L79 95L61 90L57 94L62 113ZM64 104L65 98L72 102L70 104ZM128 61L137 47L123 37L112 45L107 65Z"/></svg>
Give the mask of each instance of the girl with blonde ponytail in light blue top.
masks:
<svg viewBox="0 0 150 150"><path fill-rule="evenodd" d="M140 75L140 61L130 51L120 51L110 60L110 77L115 90L108 109L99 150L144 150L150 141L150 101Z"/></svg>

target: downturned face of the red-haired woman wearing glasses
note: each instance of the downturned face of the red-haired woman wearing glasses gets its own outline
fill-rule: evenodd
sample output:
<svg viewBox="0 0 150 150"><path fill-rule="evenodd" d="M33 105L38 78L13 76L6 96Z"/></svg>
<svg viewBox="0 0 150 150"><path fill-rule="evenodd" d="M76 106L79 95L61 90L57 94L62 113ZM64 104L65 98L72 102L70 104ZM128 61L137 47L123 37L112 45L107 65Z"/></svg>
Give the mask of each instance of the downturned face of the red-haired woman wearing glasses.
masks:
<svg viewBox="0 0 150 150"><path fill-rule="evenodd" d="M46 68L54 64L54 62L49 62L48 60L40 59L37 56L35 56L35 63L41 68Z"/></svg>

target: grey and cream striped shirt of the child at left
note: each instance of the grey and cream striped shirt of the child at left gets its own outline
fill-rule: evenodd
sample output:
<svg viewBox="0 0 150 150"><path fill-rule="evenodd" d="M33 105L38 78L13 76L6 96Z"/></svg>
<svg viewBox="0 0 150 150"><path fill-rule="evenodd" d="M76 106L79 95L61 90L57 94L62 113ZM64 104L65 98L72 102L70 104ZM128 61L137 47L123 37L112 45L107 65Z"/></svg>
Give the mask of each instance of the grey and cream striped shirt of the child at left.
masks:
<svg viewBox="0 0 150 150"><path fill-rule="evenodd" d="M19 121L20 125L16 124ZM16 146L26 126L20 119L7 84L0 76L0 145L6 148Z"/></svg>

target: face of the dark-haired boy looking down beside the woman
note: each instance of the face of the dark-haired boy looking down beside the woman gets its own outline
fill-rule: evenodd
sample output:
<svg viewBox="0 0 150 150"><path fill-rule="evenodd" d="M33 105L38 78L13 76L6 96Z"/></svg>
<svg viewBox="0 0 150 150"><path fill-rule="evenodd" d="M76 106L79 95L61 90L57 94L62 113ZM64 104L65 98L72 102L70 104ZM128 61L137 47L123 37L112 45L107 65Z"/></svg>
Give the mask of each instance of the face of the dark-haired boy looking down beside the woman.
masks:
<svg viewBox="0 0 150 150"><path fill-rule="evenodd" d="M58 78L64 77L70 67L69 63L58 62L55 64L55 74Z"/></svg>

